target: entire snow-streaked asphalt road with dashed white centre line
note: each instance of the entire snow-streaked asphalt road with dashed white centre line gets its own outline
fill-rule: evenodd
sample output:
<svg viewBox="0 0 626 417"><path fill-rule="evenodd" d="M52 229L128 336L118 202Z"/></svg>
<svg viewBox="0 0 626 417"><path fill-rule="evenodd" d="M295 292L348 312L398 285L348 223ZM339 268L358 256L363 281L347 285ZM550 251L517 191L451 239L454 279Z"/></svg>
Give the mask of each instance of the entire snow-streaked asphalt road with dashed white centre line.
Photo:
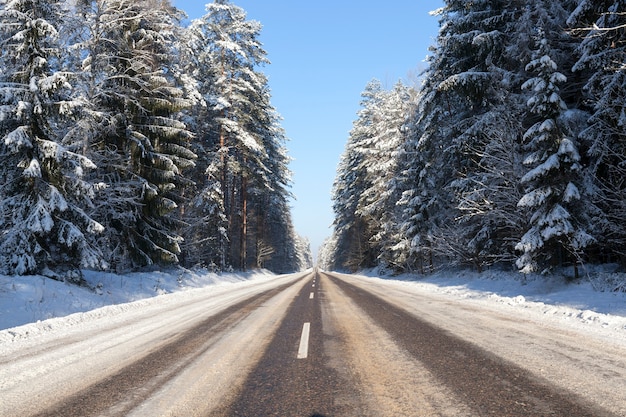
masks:
<svg viewBox="0 0 626 417"><path fill-rule="evenodd" d="M0 348L1 416L626 416L626 350L306 273Z"/></svg>

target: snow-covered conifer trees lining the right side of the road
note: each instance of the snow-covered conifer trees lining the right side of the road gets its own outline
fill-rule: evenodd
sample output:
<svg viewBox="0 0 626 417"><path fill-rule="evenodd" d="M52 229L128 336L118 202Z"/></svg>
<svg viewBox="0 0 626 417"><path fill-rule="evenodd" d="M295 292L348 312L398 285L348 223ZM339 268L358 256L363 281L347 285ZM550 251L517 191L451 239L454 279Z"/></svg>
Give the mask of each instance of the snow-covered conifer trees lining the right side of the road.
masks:
<svg viewBox="0 0 626 417"><path fill-rule="evenodd" d="M444 3L421 85L362 94L323 265L626 266L626 3Z"/></svg>

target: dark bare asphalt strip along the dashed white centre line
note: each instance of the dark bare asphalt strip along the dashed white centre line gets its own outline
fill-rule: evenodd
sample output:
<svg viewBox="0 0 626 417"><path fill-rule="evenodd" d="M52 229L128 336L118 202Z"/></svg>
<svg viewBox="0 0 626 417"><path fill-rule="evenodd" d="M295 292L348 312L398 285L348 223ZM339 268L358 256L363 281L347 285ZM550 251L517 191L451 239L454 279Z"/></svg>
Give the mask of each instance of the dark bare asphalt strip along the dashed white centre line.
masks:
<svg viewBox="0 0 626 417"><path fill-rule="evenodd" d="M233 402L211 413L211 417L364 415L352 381L328 366L321 312L324 291L318 275L311 277L311 285L305 285L293 300ZM298 358L305 328L309 329L308 351L306 358Z"/></svg>

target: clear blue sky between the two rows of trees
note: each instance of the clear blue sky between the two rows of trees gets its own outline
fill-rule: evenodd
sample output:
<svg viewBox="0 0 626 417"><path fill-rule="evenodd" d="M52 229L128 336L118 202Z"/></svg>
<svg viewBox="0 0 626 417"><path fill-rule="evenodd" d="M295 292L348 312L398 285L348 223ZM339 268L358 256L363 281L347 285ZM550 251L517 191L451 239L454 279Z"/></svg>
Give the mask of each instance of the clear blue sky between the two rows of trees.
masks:
<svg viewBox="0 0 626 417"><path fill-rule="evenodd" d="M331 232L330 194L361 92L373 78L386 87L415 83L438 32L428 12L441 0L231 0L263 25L272 62L272 104L283 117L294 161L293 219L316 253ZM173 0L190 19L209 0Z"/></svg>

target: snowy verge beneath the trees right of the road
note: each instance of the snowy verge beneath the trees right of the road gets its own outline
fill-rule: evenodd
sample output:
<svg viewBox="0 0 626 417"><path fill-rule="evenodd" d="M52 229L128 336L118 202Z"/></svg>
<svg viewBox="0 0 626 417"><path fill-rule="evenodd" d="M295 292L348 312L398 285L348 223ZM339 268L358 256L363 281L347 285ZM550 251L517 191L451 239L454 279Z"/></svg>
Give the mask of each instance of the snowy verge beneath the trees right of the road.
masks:
<svg viewBox="0 0 626 417"><path fill-rule="evenodd" d="M567 278L571 271L547 276L499 270L444 270L426 277L406 274L393 278L377 278L377 271L363 274L405 291L480 305L539 325L574 328L626 346L626 274L612 272L615 269L605 265L587 270L575 281Z"/></svg>

